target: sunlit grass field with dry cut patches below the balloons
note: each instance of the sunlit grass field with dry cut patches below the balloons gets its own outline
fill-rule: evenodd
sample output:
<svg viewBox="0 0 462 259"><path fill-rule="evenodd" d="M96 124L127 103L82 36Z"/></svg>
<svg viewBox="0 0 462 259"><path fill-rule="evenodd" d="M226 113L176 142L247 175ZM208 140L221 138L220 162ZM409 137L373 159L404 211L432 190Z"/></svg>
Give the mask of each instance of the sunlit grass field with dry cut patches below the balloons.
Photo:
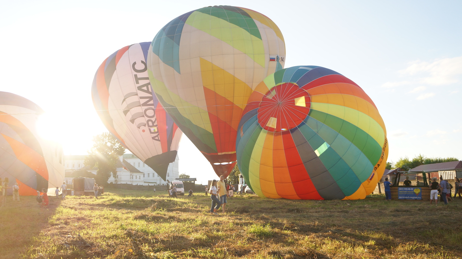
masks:
<svg viewBox="0 0 462 259"><path fill-rule="evenodd" d="M462 258L462 200L270 200L236 195L211 215L210 196L106 190L35 197L0 208L0 258Z"/></svg>

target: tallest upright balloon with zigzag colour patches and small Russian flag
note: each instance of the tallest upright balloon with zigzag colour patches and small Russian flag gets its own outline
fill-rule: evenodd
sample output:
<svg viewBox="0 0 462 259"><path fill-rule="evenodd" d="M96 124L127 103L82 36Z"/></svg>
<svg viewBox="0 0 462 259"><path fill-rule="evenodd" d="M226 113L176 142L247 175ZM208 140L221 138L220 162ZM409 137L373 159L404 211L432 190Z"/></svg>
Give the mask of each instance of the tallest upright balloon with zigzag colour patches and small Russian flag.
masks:
<svg viewBox="0 0 462 259"><path fill-rule="evenodd" d="M236 165L237 125L252 89L283 68L285 52L273 21L234 6L187 12L152 40L152 88L218 176Z"/></svg>

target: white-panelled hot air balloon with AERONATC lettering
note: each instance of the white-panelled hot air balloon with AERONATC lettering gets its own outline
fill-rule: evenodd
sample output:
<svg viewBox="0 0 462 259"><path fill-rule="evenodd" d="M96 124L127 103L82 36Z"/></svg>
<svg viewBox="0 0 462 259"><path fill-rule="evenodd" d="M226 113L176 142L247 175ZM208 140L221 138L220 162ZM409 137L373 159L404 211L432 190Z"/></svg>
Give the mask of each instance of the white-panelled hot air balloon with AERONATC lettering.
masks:
<svg viewBox="0 0 462 259"><path fill-rule="evenodd" d="M110 55L96 72L91 94L109 132L165 180L182 132L152 94L149 46L137 43Z"/></svg>

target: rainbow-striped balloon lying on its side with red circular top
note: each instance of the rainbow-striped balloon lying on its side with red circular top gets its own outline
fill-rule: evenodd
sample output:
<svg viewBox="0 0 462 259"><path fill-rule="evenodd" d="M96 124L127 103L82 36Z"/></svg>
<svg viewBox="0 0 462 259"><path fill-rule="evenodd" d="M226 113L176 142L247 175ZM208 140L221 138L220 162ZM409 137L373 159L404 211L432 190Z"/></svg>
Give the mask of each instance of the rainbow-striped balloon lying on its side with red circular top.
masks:
<svg viewBox="0 0 462 259"><path fill-rule="evenodd" d="M364 199L383 175L385 125L356 83L319 66L275 72L250 95L237 163L260 197Z"/></svg>

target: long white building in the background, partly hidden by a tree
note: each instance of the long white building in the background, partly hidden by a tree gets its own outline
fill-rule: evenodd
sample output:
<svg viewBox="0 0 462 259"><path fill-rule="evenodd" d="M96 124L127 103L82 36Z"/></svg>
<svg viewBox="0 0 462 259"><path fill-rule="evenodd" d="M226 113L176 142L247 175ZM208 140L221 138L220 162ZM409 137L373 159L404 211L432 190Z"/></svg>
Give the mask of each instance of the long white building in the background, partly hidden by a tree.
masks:
<svg viewBox="0 0 462 259"><path fill-rule="evenodd" d="M64 156L64 165L66 171L76 171L85 169L96 175L96 168L84 168L84 160L86 155L68 155ZM175 162L170 163L167 170L167 180L173 181L175 178L179 178L178 171L178 155L176 156ZM159 177L159 175L152 170L151 167L143 163L141 159L136 157L134 154L124 154L119 157L119 161L116 165L117 177L109 177L108 182L113 183L129 183L133 185L165 185L166 182ZM68 179L67 179L68 178ZM67 177L66 179L71 181L73 177Z"/></svg>

